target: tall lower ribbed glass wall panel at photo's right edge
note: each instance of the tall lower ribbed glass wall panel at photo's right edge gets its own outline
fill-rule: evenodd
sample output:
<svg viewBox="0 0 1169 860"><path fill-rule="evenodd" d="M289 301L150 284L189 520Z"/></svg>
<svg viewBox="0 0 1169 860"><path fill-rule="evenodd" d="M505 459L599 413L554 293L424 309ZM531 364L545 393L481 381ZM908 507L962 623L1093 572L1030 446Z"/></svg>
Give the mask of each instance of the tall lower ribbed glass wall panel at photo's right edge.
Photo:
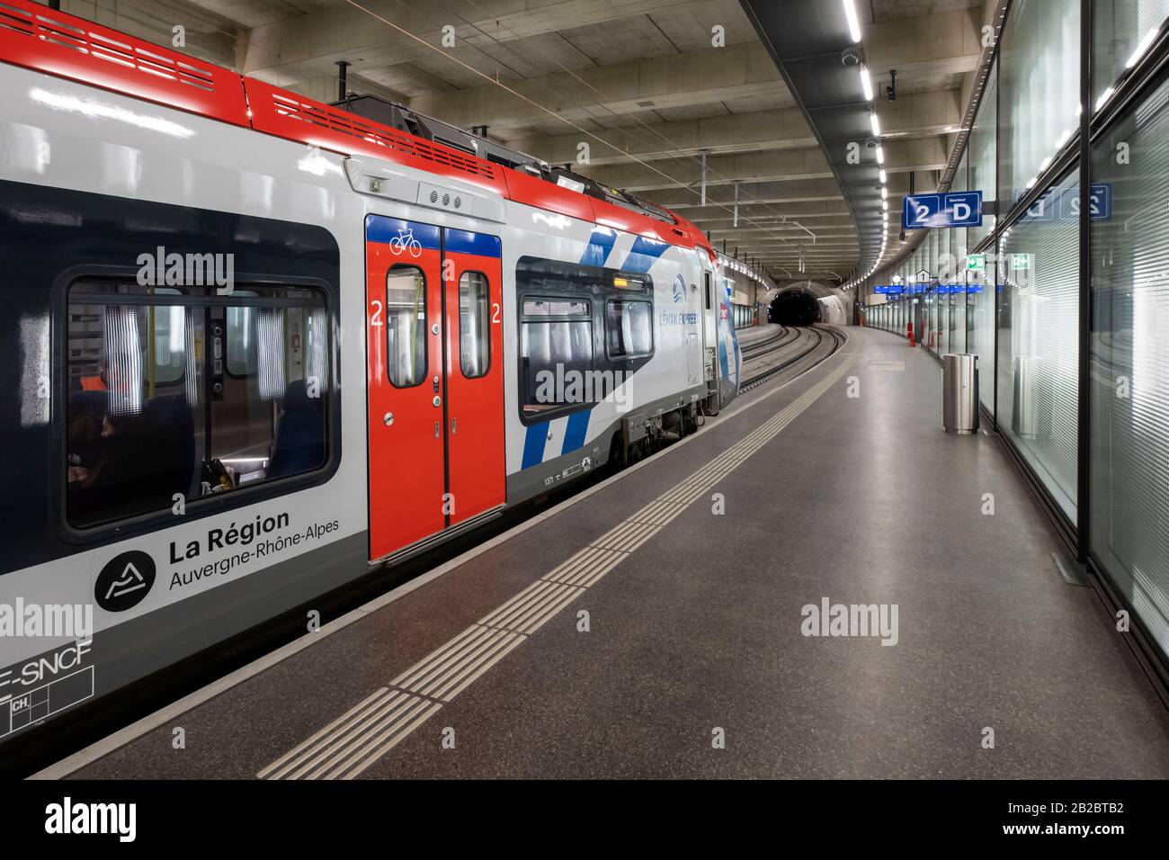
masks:
<svg viewBox="0 0 1169 860"><path fill-rule="evenodd" d="M1092 171L1113 209L1092 222L1091 546L1169 653L1169 82L1097 142Z"/></svg>

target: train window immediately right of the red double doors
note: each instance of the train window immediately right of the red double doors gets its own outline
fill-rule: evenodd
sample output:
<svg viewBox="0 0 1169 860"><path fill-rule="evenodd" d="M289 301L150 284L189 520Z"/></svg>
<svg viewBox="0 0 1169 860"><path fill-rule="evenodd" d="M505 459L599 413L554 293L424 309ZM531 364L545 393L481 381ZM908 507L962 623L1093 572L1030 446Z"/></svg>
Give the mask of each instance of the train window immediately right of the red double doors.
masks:
<svg viewBox="0 0 1169 860"><path fill-rule="evenodd" d="M574 319L575 316L584 318ZM580 383L573 384L593 370L593 321L588 301L525 300L519 356L524 369L520 395L525 419L588 403L587 388Z"/></svg>

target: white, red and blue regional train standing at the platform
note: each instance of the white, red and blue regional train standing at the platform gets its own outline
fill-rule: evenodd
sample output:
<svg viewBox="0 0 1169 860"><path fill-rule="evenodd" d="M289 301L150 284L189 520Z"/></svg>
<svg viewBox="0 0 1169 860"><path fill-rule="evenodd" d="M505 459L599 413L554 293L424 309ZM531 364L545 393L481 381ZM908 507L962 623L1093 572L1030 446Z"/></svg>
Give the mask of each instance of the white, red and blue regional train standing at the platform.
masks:
<svg viewBox="0 0 1169 860"><path fill-rule="evenodd" d="M0 90L0 750L738 393L707 238L567 166L28 0Z"/></svg>

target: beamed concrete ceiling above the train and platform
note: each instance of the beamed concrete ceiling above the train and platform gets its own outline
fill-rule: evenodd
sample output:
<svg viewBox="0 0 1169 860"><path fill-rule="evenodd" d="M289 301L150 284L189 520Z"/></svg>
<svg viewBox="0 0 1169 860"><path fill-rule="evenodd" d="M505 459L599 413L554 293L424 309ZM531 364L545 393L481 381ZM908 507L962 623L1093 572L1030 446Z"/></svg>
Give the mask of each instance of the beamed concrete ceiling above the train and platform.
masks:
<svg viewBox="0 0 1169 860"><path fill-rule="evenodd" d="M843 20L841 0L816 0ZM837 170L846 139L817 140L739 0L64 0L83 18L333 101L350 90L489 137L657 200L720 249L776 277L842 281L860 263ZM856 0L878 89L890 200L931 190L963 118L982 53L981 2ZM95 8L97 7L97 8ZM712 44L720 27L724 44ZM443 44L443 35L454 46ZM846 34L844 35L848 42ZM808 44L807 53L838 46ZM894 102L881 98L897 69ZM856 76L855 70L852 76ZM819 82L817 104L860 101ZM835 88L835 89L833 89ZM803 99L807 101L807 99ZM864 116L864 115L862 115ZM817 123L818 125L818 123ZM587 164L577 163L588 144ZM706 205L701 205L701 157ZM838 176L839 174L839 176ZM865 180L867 181L867 180ZM855 191L855 190L853 190ZM734 214L738 198L738 216ZM895 206L891 206L891 212ZM897 219L891 218L891 221ZM897 229L891 228L891 250ZM878 240L879 243L879 240Z"/></svg>

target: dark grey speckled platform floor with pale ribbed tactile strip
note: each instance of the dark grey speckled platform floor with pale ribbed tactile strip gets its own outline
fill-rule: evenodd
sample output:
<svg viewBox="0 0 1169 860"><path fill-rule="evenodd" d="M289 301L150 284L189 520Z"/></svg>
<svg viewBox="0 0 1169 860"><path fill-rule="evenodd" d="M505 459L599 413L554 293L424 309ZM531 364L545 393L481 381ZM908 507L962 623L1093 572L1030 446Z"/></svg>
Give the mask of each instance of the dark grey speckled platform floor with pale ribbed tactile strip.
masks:
<svg viewBox="0 0 1169 860"><path fill-rule="evenodd" d="M920 349L849 335L560 512L47 775L1169 777L1169 714L1093 591L1060 577L997 441L941 432ZM803 635L823 598L897 604L897 645Z"/></svg>

